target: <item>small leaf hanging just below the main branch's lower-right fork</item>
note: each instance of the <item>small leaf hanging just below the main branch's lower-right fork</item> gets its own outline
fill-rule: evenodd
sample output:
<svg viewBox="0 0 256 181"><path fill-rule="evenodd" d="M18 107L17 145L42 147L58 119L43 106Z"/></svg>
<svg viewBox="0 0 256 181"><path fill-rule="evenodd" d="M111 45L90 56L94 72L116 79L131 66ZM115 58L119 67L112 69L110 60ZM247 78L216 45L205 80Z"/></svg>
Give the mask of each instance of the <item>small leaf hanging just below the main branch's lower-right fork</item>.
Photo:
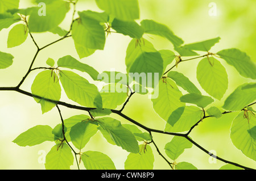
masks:
<svg viewBox="0 0 256 181"><path fill-rule="evenodd" d="M192 148L193 144L184 137L174 136L170 142L164 146L166 154L172 160L175 160L187 148Z"/></svg>

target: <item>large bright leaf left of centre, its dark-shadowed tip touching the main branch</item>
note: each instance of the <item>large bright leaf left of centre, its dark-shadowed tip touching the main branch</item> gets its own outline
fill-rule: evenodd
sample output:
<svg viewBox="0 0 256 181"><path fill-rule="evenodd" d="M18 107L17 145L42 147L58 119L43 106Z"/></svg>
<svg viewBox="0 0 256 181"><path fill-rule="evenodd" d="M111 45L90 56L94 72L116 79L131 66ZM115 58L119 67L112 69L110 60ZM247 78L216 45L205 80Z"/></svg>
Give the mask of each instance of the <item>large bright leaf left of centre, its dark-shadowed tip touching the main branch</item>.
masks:
<svg viewBox="0 0 256 181"><path fill-rule="evenodd" d="M95 85L72 71L61 70L60 81L68 98L86 107L102 107L100 92Z"/></svg>

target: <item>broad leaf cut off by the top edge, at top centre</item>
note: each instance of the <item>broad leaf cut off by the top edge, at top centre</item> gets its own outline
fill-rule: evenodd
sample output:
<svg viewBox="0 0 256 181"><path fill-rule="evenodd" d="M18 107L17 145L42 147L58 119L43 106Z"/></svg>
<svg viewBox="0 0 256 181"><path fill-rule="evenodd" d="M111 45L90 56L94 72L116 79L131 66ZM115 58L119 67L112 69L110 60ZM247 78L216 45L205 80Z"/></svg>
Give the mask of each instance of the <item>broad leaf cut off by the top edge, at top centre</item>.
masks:
<svg viewBox="0 0 256 181"><path fill-rule="evenodd" d="M123 21L139 19L138 0L96 0L97 6Z"/></svg>

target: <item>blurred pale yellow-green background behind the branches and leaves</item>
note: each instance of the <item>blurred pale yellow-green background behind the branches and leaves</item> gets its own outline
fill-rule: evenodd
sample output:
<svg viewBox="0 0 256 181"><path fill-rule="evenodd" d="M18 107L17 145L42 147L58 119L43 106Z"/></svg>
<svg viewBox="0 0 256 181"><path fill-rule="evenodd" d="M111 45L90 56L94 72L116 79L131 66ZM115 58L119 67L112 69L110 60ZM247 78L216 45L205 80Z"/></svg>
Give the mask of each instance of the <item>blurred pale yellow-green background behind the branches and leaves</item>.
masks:
<svg viewBox="0 0 256 181"><path fill-rule="evenodd" d="M217 16L210 16L210 3L216 5ZM20 0L20 8L26 8L33 4L28 0ZM220 36L220 43L216 44L210 52L216 53L218 50L227 48L238 48L246 52L251 60L256 62L256 1L207 1L207 0L139 0L141 10L141 19L152 19L156 22L166 24L174 33L181 37L185 43L193 43L212 39ZM96 6L93 0L79 0L77 10L93 10L101 11ZM57 10L56 10L57 11ZM71 23L71 14L67 14L66 19L61 23L61 27L68 30ZM27 72L31 60L36 52L36 47L32 43L30 37L19 47L7 49L7 36L11 27L0 32L0 50L2 52L13 54L14 64L7 69L0 71L0 86L16 86L23 75ZM52 33L35 33L34 38L40 47L59 39L57 35ZM173 50L172 44L162 37L154 35L144 35L144 38L151 41L154 47L160 49ZM125 56L126 48L130 42L129 36L112 33L106 40L104 50L97 50L92 56L80 60L85 64L93 66L100 73L102 71L110 71L115 69L125 73ZM36 66L46 66L47 58L51 57L58 60L60 57L70 54L79 60L77 56L72 38L67 38L59 43L48 47L40 52L35 62ZM188 61L179 64L178 68L174 69L184 73L204 95L207 93L201 89L196 80L196 66L199 60ZM229 88L221 101L216 100L214 106L221 107L224 100L231 94L237 86L245 82L252 82L251 79L242 78L237 71L226 64L224 60L220 60L225 66L229 76ZM22 85L22 89L31 91L30 87L35 75L39 71L34 71ZM82 74L86 77L86 74ZM88 80L92 80L88 77ZM64 93L64 91L63 91ZM64 102L73 103L67 99L64 94L61 97ZM74 103L75 104L75 103ZM69 110L65 107L60 107L64 119L73 115L78 115L86 112ZM165 121L162 120L152 109L152 103L147 96L134 95L124 113L131 118L139 121L147 127L155 129L164 129ZM200 123L191 133L191 137L207 150L213 150L219 157L228 159L229 161L240 163L247 167L256 169L255 161L247 158L238 150L230 140L230 127L233 118L237 113L229 113L221 117L221 119L208 118ZM117 115L111 115L114 118L122 121L123 124L128 122ZM50 125L52 128L60 123L59 113L56 109L44 113L40 110L40 104L37 104L34 99L18 94L17 92L0 92L0 169L44 169L44 164L41 158L53 146L53 142L44 142L41 145L32 147L20 147L14 144L13 141L20 133L35 125ZM164 145L171 141L171 136L153 133L154 140L160 151L164 153ZM155 155L154 169L170 169L168 164L156 152L154 145L150 145ZM102 151L109 155L117 169L124 169L124 162L127 158L127 153L118 146L108 144L98 132L84 150ZM214 152L215 151L215 152ZM219 169L225 165L221 161L212 161L209 155L205 154L200 149L193 146L191 149L186 149L176 162L190 162L198 169ZM84 168L81 163L81 168ZM76 164L72 169L77 169Z"/></svg>

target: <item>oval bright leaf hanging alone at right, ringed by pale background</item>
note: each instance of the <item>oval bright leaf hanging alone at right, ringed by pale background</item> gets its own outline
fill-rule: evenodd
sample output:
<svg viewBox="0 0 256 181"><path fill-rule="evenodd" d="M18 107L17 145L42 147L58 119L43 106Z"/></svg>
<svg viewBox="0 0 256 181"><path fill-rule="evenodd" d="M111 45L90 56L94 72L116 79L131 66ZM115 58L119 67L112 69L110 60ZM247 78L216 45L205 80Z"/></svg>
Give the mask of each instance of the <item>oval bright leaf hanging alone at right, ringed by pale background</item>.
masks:
<svg viewBox="0 0 256 181"><path fill-rule="evenodd" d="M203 58L197 66L196 78L211 96L221 99L228 89L228 74L221 63L213 57Z"/></svg>

